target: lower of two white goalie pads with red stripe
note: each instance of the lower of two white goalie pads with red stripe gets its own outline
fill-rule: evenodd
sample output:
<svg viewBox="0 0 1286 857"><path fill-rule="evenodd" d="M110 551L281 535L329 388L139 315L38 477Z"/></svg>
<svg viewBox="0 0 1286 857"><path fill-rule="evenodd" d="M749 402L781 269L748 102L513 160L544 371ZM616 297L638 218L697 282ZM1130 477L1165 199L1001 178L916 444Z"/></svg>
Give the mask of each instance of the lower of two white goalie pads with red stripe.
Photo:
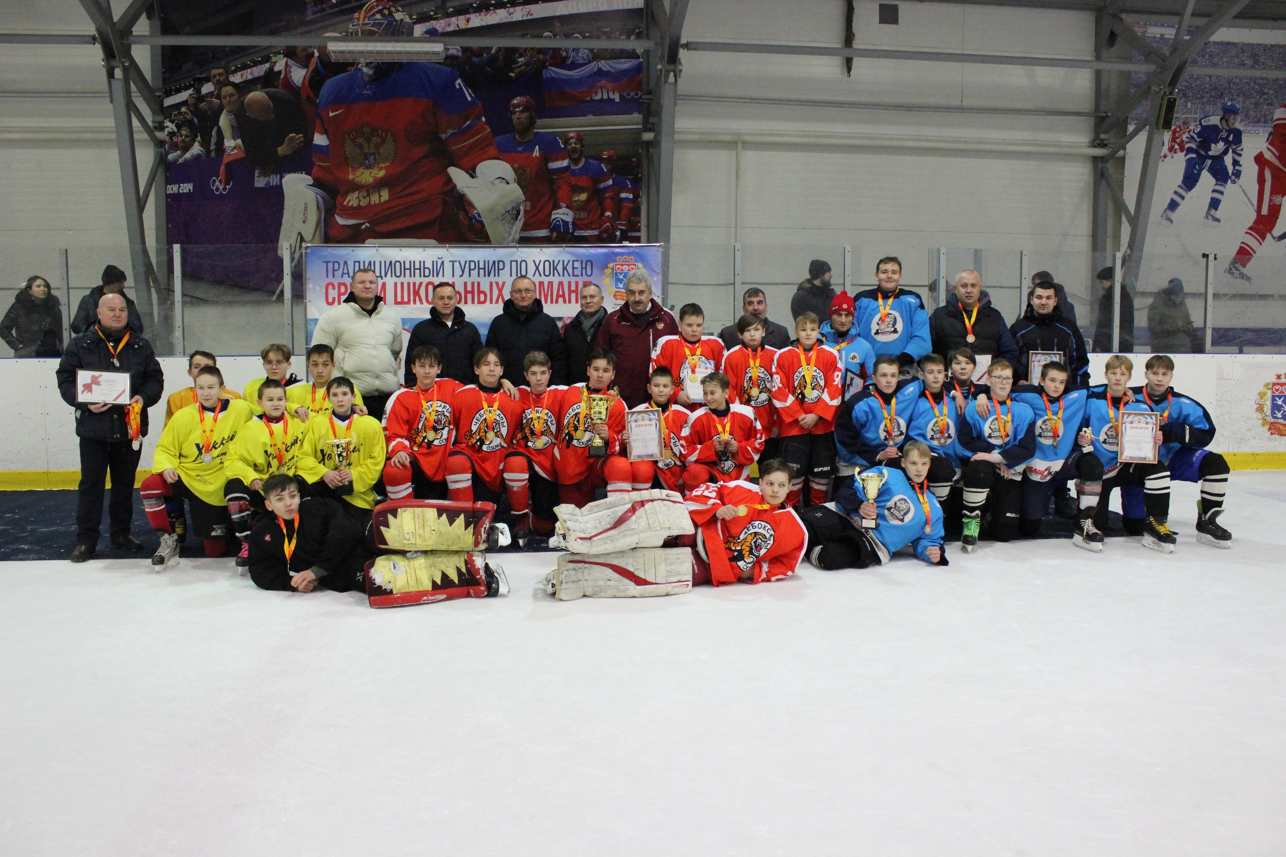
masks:
<svg viewBox="0 0 1286 857"><path fill-rule="evenodd" d="M692 590L692 570L688 547L563 554L545 576L545 590L559 601L680 595Z"/></svg>

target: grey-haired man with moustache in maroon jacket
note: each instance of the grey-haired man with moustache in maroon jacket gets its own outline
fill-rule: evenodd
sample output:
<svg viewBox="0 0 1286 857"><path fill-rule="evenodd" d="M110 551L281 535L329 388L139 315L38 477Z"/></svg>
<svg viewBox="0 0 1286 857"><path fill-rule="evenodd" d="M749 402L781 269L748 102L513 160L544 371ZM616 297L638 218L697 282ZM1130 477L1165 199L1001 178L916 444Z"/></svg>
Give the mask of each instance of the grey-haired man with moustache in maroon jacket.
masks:
<svg viewBox="0 0 1286 857"><path fill-rule="evenodd" d="M616 356L616 385L629 407L647 401L648 365L661 337L679 335L674 316L652 299L652 278L639 269L625 280L625 306L607 314L595 348Z"/></svg>

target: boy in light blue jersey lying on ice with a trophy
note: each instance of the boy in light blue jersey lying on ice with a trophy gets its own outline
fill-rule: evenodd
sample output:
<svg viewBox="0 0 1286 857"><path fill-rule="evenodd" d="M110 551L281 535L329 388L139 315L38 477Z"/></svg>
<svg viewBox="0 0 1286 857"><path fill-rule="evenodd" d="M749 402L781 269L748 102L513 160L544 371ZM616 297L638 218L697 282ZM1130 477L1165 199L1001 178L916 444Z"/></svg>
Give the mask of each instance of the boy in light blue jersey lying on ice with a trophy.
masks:
<svg viewBox="0 0 1286 857"><path fill-rule="evenodd" d="M935 456L919 441L908 441L903 451L905 473L894 468L872 468L878 486L868 500L859 483L840 490L833 504L800 511L808 531L809 561L820 569L867 568L882 565L890 556L912 545L916 556L946 565L943 550L943 509L928 490L928 466ZM863 527L859 522L873 522Z"/></svg>

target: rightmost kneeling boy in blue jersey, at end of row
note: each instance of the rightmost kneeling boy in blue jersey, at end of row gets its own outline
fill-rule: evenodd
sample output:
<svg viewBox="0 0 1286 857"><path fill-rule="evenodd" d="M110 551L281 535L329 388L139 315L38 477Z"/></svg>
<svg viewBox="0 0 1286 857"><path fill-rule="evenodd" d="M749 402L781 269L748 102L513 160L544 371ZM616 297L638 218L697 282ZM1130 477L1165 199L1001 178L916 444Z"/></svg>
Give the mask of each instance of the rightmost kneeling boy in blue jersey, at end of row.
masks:
<svg viewBox="0 0 1286 857"><path fill-rule="evenodd" d="M1205 448L1214 441L1210 411L1191 396L1174 392L1174 360L1166 355L1148 357L1143 366L1147 384L1132 387L1136 402L1161 415L1161 448L1157 460L1170 472L1170 481L1200 482L1197 500L1197 541L1211 547L1232 547L1232 533L1219 526L1223 497L1228 492L1231 468L1218 452ZM1142 517L1145 496L1139 488L1121 488L1125 517Z"/></svg>

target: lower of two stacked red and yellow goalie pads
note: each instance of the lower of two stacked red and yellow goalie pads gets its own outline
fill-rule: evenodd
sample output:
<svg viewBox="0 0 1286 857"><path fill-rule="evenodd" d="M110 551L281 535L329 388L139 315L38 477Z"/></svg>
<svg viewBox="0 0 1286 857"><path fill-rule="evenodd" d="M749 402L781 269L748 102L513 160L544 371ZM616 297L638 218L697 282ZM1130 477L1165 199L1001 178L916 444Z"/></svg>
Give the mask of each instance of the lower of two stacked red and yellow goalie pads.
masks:
<svg viewBox="0 0 1286 857"><path fill-rule="evenodd" d="M509 594L504 569L481 551L382 554L367 563L370 606L405 606Z"/></svg>

